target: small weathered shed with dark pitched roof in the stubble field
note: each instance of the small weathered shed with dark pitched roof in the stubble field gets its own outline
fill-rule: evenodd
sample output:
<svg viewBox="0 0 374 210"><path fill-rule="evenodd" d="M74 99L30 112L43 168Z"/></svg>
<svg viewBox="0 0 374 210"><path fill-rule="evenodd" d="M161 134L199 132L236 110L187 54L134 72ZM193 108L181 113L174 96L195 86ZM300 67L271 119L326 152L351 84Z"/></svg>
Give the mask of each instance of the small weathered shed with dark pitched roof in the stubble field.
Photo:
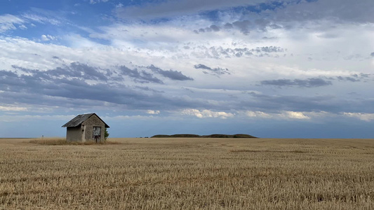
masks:
<svg viewBox="0 0 374 210"><path fill-rule="evenodd" d="M105 141L105 128L109 127L95 113L76 116L62 125L66 127L67 141Z"/></svg>

